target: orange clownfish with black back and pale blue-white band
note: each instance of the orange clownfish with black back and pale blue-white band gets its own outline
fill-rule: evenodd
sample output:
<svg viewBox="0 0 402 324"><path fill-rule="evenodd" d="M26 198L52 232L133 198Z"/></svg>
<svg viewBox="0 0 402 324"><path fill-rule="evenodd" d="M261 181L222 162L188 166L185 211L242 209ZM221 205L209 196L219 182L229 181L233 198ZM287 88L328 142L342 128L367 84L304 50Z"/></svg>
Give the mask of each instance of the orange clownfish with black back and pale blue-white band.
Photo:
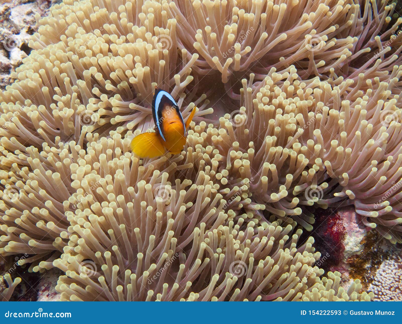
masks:
<svg viewBox="0 0 402 324"><path fill-rule="evenodd" d="M156 131L134 137L131 141L131 150L140 158L156 158L163 155L166 150L171 154L180 153L186 144L187 128L195 111L196 107L184 122L173 97L162 89L155 89L152 99L152 115Z"/></svg>

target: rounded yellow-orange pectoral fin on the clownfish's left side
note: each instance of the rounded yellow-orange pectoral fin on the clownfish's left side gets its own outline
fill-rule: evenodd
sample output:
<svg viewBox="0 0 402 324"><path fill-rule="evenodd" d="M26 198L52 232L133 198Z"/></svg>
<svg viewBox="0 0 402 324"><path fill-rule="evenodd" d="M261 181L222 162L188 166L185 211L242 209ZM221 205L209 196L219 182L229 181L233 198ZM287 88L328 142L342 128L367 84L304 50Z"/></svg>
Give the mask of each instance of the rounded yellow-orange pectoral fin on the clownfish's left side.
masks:
<svg viewBox="0 0 402 324"><path fill-rule="evenodd" d="M131 141L131 150L140 158L156 158L165 153L165 148L157 133L142 133Z"/></svg>

